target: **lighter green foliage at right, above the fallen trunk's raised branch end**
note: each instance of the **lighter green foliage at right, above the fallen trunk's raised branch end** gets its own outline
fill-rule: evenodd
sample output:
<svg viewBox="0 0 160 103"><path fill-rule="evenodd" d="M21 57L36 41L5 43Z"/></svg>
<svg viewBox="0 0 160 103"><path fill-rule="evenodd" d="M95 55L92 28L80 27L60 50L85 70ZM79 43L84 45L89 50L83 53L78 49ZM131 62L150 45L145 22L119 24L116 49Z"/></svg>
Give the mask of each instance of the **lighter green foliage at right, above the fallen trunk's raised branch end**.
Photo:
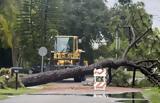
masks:
<svg viewBox="0 0 160 103"><path fill-rule="evenodd" d="M106 41L107 45L102 45L95 50L95 57L103 56L105 58L121 58L125 49L133 39L129 27L133 27L136 38L152 26L152 15L149 15L144 9L143 2L133 3L126 0L119 0L110 11L109 22L107 23L108 32L112 35L113 40ZM120 39L118 49L114 37L118 33ZM136 43L127 55L128 59L155 59L159 58L159 30L155 29L148 33L140 42Z"/></svg>

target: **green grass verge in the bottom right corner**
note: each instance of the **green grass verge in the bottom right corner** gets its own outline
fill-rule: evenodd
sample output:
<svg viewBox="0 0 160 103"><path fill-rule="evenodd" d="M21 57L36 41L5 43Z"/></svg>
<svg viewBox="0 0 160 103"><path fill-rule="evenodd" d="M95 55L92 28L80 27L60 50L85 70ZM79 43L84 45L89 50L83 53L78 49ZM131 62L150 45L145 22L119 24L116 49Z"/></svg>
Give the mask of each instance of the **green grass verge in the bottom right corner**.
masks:
<svg viewBox="0 0 160 103"><path fill-rule="evenodd" d="M160 88L158 87L146 88L142 93L144 97L146 97L151 101L151 103L160 103Z"/></svg>

